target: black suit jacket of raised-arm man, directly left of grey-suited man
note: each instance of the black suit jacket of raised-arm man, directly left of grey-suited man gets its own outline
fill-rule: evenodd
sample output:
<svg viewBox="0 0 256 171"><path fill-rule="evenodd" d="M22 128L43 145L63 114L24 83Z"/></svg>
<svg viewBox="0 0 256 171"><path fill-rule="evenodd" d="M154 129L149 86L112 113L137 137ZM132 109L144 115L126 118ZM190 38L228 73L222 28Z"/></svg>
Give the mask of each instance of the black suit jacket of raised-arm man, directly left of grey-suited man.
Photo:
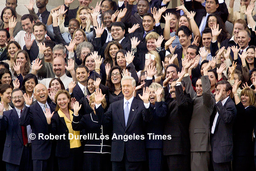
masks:
<svg viewBox="0 0 256 171"><path fill-rule="evenodd" d="M163 140L163 155L190 155L189 122L192 102L189 94L184 94L181 85L175 86L176 100L169 103L164 126L164 135L172 139Z"/></svg>

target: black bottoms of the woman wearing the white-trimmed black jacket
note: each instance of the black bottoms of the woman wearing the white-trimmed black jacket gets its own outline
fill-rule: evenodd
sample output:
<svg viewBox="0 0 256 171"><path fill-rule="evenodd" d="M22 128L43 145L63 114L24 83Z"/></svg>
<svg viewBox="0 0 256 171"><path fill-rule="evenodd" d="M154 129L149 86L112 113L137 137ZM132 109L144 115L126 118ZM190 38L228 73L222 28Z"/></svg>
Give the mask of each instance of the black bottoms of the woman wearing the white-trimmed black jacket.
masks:
<svg viewBox="0 0 256 171"><path fill-rule="evenodd" d="M84 153L83 171L112 171L111 154Z"/></svg>

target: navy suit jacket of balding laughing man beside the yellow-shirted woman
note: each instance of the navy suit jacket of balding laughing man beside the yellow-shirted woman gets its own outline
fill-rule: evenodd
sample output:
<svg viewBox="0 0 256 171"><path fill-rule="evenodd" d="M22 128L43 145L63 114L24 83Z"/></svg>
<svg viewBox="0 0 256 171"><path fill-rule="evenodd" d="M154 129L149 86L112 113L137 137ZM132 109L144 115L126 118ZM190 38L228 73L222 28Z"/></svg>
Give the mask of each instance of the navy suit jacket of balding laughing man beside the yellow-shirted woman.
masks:
<svg viewBox="0 0 256 171"><path fill-rule="evenodd" d="M49 104L51 112L55 110L55 106ZM20 116L20 125L30 125L32 133L35 133L36 138L32 140L32 160L46 160L49 159L51 154L52 142L49 139L38 139L39 133L49 135L51 125L48 125L44 116L44 112L36 101L32 104L27 112Z"/></svg>

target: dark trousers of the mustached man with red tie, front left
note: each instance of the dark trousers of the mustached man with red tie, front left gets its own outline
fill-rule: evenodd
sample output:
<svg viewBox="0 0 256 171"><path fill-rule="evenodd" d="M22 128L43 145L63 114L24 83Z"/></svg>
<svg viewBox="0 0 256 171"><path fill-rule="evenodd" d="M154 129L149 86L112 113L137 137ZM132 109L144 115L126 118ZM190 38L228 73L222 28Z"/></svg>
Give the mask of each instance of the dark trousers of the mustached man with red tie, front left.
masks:
<svg viewBox="0 0 256 171"><path fill-rule="evenodd" d="M33 171L31 152L31 147L24 146L20 159L20 165L14 165L6 162L6 171Z"/></svg>

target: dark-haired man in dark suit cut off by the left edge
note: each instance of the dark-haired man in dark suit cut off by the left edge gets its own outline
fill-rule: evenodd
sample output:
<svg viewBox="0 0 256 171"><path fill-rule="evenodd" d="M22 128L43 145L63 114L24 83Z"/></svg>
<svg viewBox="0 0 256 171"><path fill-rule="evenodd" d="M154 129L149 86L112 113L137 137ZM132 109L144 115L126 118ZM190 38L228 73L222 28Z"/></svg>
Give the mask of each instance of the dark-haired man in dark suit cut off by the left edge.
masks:
<svg viewBox="0 0 256 171"><path fill-rule="evenodd" d="M7 59L6 43L10 40L10 34L6 29L0 29L0 61Z"/></svg>

